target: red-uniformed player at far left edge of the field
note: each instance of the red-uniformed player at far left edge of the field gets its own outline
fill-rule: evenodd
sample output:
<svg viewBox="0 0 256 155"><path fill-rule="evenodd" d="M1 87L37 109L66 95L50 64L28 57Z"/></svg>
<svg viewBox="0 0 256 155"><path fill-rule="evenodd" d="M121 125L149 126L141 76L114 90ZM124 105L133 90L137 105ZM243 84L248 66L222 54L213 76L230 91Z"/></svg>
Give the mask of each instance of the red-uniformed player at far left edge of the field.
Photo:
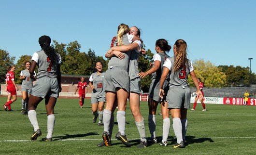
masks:
<svg viewBox="0 0 256 155"><path fill-rule="evenodd" d="M3 104L4 110L7 111L13 111L11 109L11 104L14 103L17 100L17 92L16 90L19 90L18 87L15 84L15 76L14 76L14 70L16 69L15 65L11 65L8 68L8 73L6 74L5 77L5 91L7 91L8 96L7 96L7 102L6 104ZM12 99L13 98L13 99Z"/></svg>

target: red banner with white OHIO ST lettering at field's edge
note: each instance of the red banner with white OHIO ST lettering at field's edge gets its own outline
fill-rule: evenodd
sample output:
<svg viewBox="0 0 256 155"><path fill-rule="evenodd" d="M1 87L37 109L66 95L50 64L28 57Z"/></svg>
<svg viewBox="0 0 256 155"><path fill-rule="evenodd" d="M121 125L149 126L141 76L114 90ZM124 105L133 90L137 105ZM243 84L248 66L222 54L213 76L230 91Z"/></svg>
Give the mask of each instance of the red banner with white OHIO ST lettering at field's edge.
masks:
<svg viewBox="0 0 256 155"><path fill-rule="evenodd" d="M244 98L223 98L223 104L243 105ZM256 105L256 99L249 98L247 105Z"/></svg>

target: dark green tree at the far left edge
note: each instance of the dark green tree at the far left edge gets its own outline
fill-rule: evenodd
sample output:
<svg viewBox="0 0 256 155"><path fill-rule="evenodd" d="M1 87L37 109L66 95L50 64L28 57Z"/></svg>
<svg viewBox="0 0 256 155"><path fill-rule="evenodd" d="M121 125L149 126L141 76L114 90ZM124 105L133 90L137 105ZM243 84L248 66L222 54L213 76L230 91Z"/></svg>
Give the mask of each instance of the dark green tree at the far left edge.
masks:
<svg viewBox="0 0 256 155"><path fill-rule="evenodd" d="M9 52L0 49L0 83L5 83L5 75L8 67L14 65L14 56L10 56Z"/></svg>

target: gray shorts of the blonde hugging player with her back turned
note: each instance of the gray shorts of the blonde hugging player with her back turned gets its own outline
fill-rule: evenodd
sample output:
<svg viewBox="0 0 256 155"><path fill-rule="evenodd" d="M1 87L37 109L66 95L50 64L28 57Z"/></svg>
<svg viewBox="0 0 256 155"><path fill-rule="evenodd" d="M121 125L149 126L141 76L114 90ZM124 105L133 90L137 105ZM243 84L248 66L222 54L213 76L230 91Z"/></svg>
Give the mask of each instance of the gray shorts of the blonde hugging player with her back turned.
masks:
<svg viewBox="0 0 256 155"><path fill-rule="evenodd" d="M104 90L116 92L122 88L130 92L130 78L128 71L121 67L108 68L104 76Z"/></svg>

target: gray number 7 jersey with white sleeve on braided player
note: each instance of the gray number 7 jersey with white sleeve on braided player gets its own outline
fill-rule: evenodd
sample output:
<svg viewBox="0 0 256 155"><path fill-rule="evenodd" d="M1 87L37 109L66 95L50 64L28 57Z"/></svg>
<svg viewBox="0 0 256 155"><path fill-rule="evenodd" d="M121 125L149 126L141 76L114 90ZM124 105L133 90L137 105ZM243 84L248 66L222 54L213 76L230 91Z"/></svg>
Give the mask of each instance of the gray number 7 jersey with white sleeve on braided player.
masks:
<svg viewBox="0 0 256 155"><path fill-rule="evenodd" d="M34 52L32 60L38 65L37 78L49 77L56 78L57 64L61 63L60 55L58 62L51 62L49 57L44 53L44 51Z"/></svg>

